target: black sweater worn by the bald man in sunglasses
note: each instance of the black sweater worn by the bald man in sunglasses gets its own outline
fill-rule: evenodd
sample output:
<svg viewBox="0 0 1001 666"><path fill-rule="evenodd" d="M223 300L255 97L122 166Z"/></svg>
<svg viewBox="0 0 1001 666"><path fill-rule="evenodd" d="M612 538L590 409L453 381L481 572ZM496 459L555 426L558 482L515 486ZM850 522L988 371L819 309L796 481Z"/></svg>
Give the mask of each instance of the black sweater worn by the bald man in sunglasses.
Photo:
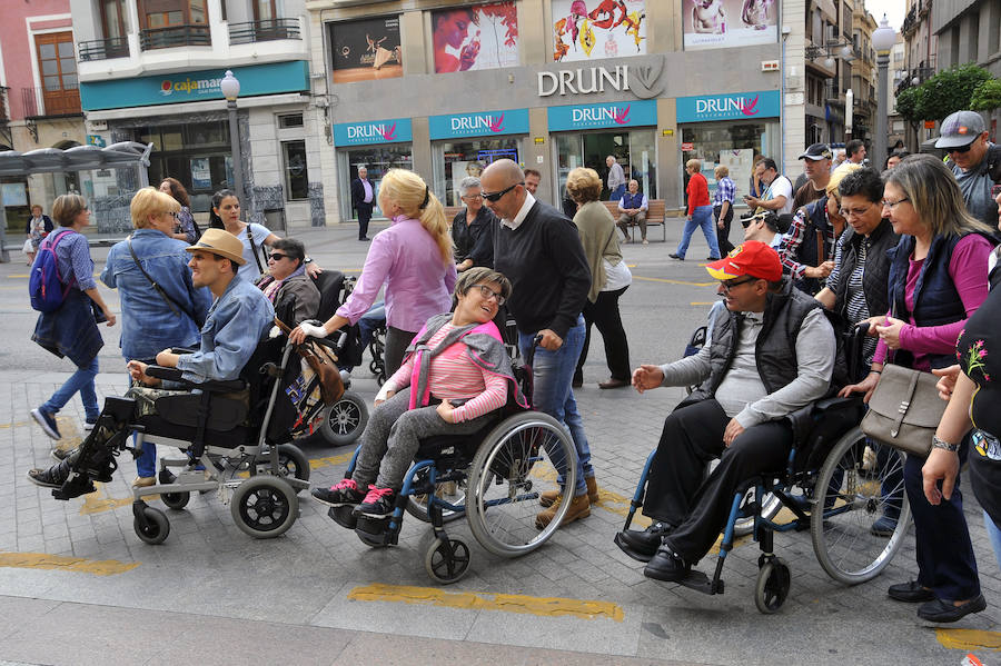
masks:
<svg viewBox="0 0 1001 666"><path fill-rule="evenodd" d="M536 201L517 229L495 225L494 268L511 280L508 308L519 331L566 337L591 289L584 246L566 216Z"/></svg>

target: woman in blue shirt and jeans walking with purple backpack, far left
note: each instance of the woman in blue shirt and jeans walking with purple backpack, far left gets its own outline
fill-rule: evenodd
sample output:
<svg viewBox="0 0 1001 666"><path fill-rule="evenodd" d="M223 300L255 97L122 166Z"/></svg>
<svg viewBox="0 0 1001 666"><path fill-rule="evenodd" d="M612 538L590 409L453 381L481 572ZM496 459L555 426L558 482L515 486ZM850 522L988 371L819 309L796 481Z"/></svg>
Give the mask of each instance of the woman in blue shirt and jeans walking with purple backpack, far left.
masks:
<svg viewBox="0 0 1001 666"><path fill-rule="evenodd" d="M59 309L38 316L31 339L59 358L69 357L77 371L44 404L31 410L31 418L46 435L60 439L56 414L77 392L83 401L85 429L92 428L97 423L100 408L93 379L98 374L97 355L105 346L97 318L115 326L115 314L97 290L90 245L87 237L80 233L90 223L87 201L80 195L62 195L52 203L52 217L58 227L46 237L41 249L52 248L56 254L65 297Z"/></svg>

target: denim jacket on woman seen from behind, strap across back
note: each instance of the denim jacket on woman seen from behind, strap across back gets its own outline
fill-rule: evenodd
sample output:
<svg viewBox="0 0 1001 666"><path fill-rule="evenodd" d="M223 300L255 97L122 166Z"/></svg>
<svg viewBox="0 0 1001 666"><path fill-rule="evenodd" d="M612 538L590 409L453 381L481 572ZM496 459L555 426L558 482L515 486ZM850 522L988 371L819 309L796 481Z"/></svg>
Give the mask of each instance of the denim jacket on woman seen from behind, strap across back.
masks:
<svg viewBox="0 0 1001 666"><path fill-rule="evenodd" d="M151 359L168 347L198 345L198 329L212 302L207 288L196 289L188 268L187 243L156 229L136 229L132 250L146 272L180 306L171 311L132 260L126 241L108 252L101 281L119 290L121 299L121 355ZM187 312L187 314L185 314ZM192 320L192 317L195 320Z"/></svg>

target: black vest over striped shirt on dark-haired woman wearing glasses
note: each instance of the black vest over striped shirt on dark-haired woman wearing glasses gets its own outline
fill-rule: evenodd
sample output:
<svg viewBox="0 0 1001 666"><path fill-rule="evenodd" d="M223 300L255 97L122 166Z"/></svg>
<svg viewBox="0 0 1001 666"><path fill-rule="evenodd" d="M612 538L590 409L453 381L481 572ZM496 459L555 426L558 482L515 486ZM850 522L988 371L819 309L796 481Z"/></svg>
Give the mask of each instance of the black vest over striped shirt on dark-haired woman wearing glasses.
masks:
<svg viewBox="0 0 1001 666"><path fill-rule="evenodd" d="M896 247L900 236L893 232L890 220L884 219L865 238L849 227L841 245L841 268L838 275L838 289L834 311L845 321L848 319L848 284L859 261L859 250L865 246L865 266L862 268L862 292L865 297L865 307L871 317L885 315L890 311L890 296L886 289L886 280L890 275L890 258L886 252ZM855 324L850 321L849 324Z"/></svg>

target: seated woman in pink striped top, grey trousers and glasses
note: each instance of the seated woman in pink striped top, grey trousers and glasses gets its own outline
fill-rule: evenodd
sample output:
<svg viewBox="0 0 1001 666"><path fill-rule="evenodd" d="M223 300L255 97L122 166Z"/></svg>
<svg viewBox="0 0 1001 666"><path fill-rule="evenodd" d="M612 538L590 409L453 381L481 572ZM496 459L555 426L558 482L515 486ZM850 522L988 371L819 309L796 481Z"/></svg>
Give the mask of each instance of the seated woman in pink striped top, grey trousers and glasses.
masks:
<svg viewBox="0 0 1001 666"><path fill-rule="evenodd" d="M475 267L460 275L455 311L427 321L407 349L404 365L376 396L354 474L329 489L314 490L317 500L331 507L355 506L351 523L359 516L385 517L393 511L422 438L482 429L490 412L506 404L508 382L515 399L527 408L493 322L509 296L511 282L495 270Z"/></svg>

